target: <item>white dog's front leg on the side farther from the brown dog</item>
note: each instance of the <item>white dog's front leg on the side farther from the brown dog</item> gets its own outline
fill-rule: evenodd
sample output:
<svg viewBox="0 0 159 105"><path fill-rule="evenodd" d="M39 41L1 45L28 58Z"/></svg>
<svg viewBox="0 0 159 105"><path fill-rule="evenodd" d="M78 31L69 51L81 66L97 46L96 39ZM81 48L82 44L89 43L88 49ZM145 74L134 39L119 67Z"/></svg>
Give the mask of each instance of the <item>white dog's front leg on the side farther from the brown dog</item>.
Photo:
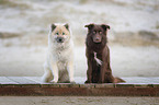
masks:
<svg viewBox="0 0 159 105"><path fill-rule="evenodd" d="M57 62L52 62L52 71L53 71L53 75L54 79L50 81L53 83L57 83L58 81L58 68L57 68Z"/></svg>

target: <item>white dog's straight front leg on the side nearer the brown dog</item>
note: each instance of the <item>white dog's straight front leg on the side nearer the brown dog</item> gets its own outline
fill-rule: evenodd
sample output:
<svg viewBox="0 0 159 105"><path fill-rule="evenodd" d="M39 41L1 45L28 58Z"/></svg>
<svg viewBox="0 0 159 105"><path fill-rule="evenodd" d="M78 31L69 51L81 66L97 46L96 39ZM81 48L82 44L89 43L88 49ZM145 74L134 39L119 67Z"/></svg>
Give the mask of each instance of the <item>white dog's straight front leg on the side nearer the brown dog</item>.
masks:
<svg viewBox="0 0 159 105"><path fill-rule="evenodd" d="M68 67L70 83L75 83L75 80L73 80L73 61L69 61L67 63L67 67Z"/></svg>

